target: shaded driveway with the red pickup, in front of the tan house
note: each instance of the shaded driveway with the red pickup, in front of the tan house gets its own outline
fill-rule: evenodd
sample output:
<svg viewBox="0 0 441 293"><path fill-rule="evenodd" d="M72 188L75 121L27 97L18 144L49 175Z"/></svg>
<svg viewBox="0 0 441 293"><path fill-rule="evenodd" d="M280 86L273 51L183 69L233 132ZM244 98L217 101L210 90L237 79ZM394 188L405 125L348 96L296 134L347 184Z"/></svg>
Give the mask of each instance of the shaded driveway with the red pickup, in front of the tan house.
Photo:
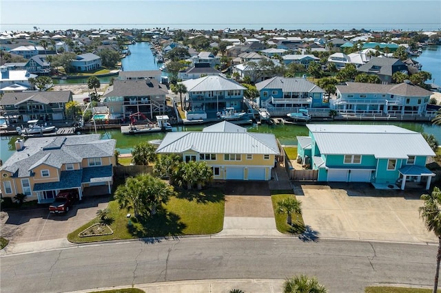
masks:
<svg viewBox="0 0 441 293"><path fill-rule="evenodd" d="M65 239L70 232L96 217L106 208L110 195L83 197L66 215L50 214L48 208L13 210L0 213L1 236L15 243Z"/></svg>

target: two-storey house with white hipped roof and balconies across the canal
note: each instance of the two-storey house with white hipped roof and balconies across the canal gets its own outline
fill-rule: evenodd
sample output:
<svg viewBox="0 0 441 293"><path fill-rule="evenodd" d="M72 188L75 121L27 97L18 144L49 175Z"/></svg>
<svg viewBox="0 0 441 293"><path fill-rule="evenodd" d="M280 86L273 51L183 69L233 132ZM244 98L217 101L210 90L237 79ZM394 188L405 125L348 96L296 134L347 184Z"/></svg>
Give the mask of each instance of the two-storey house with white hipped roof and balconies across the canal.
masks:
<svg viewBox="0 0 441 293"><path fill-rule="evenodd" d="M185 94L185 118L199 120L216 118L227 107L243 111L243 93L247 89L224 76L204 76L183 81Z"/></svg>

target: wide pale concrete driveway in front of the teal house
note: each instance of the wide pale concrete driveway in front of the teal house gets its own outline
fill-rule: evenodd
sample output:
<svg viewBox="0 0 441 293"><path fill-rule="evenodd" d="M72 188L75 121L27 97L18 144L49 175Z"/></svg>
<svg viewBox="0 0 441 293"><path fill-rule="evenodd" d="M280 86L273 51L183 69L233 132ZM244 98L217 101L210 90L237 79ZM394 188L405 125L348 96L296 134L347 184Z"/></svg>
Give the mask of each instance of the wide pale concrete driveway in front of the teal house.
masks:
<svg viewBox="0 0 441 293"><path fill-rule="evenodd" d="M379 191L369 184L296 184L305 225L316 236L399 242L438 242L418 208L424 191Z"/></svg>

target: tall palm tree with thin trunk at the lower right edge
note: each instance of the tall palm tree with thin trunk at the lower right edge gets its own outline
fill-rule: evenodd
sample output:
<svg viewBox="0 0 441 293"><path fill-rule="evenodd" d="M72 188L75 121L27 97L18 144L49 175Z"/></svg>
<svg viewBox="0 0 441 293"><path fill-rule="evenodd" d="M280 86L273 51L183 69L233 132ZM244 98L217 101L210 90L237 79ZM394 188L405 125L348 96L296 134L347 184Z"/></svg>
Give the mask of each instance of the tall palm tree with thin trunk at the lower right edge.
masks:
<svg viewBox="0 0 441 293"><path fill-rule="evenodd" d="M438 253L436 254L436 272L435 283L433 284L433 293L438 290L438 276L440 275L441 261L441 191L435 187L430 195L421 195L424 200L424 206L420 206L420 217L424 220L427 230L434 232L438 237Z"/></svg>

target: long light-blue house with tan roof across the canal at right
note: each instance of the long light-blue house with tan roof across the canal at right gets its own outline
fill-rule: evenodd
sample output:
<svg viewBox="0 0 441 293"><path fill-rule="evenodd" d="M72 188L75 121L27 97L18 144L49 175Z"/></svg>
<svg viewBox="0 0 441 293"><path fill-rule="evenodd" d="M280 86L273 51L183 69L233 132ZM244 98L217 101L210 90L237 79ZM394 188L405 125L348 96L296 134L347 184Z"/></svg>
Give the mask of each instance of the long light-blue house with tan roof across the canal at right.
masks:
<svg viewBox="0 0 441 293"><path fill-rule="evenodd" d="M340 114L361 116L431 116L427 105L431 91L407 81L398 85L346 83L336 86L331 107Z"/></svg>

